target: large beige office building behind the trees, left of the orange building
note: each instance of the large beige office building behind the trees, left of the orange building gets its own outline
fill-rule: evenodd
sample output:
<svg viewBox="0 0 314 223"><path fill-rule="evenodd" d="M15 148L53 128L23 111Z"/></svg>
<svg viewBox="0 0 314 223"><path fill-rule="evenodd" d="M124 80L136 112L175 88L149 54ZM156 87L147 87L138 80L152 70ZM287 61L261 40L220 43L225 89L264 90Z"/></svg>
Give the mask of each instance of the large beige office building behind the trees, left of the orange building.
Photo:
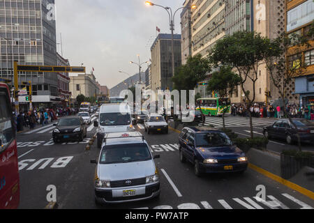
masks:
<svg viewBox="0 0 314 223"><path fill-rule="evenodd" d="M207 0L195 1L198 10L193 11L193 52L207 56L216 41L225 35L232 35L237 31L255 31L262 36L273 39L285 31L285 0ZM193 2L194 4L194 2ZM287 89L290 102L298 100L297 95L292 95L294 84ZM253 91L253 84L249 80L245 85L246 90ZM197 86L197 92L206 97L211 93L204 91L202 83ZM271 97L265 95L271 91ZM230 95L232 102L243 101L241 87ZM252 93L251 93L252 95ZM277 89L273 86L266 66L258 68L258 79L255 84L255 102L271 102L279 98Z"/></svg>

